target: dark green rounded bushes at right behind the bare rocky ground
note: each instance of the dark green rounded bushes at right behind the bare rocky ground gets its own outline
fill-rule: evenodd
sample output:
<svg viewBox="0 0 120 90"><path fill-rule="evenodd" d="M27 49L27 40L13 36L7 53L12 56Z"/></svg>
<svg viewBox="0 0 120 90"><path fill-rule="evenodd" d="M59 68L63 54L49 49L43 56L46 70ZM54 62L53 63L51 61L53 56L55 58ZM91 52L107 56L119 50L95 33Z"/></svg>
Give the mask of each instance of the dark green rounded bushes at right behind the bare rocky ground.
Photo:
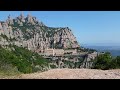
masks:
<svg viewBox="0 0 120 90"><path fill-rule="evenodd" d="M92 68L102 70L119 69L120 56L113 58L109 52L101 54L94 60Z"/></svg>

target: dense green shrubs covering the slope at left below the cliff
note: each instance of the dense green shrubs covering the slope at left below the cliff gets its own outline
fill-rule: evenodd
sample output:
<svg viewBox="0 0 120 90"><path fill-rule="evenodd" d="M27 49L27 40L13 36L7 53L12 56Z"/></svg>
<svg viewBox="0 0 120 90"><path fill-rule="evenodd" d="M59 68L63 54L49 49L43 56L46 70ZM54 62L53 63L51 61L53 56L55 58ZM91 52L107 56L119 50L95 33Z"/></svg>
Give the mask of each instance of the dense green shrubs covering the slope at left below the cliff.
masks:
<svg viewBox="0 0 120 90"><path fill-rule="evenodd" d="M44 66L48 67L49 61L42 58L37 53L33 53L22 47L10 47L14 47L15 50L9 51L4 48L0 48L0 62L2 62L0 67L2 67L2 70L7 70L7 65L12 65L11 67L16 67L19 72L32 73L36 71L36 65L39 65L43 68Z"/></svg>

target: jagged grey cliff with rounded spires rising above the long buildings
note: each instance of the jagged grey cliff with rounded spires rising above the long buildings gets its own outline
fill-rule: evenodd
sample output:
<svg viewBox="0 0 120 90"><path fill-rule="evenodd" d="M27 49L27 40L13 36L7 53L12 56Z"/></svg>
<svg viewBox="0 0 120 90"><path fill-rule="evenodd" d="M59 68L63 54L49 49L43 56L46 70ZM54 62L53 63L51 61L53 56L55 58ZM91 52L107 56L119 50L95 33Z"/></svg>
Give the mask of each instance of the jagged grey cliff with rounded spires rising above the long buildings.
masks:
<svg viewBox="0 0 120 90"><path fill-rule="evenodd" d="M0 22L0 45L9 44L41 53L47 48L80 47L68 27L48 27L36 17L31 15L24 17L22 14L15 19L9 15L5 22Z"/></svg>

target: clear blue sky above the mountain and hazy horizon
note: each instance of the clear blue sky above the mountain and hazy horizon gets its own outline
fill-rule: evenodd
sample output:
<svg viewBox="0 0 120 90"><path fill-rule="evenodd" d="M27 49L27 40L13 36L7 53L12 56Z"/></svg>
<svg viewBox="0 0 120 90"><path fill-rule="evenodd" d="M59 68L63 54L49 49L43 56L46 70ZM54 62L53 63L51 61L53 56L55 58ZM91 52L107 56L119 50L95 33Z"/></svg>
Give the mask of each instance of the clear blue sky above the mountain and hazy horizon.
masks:
<svg viewBox="0 0 120 90"><path fill-rule="evenodd" d="M21 11L0 11L0 21ZM120 11L23 11L50 27L69 27L80 44L120 45Z"/></svg>

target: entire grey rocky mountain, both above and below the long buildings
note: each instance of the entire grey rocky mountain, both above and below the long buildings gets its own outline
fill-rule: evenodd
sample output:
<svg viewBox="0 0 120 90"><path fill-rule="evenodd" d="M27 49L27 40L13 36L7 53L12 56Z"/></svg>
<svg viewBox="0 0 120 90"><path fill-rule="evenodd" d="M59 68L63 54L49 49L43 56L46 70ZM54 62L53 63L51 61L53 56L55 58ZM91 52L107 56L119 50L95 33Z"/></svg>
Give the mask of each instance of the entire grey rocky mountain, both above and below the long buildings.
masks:
<svg viewBox="0 0 120 90"><path fill-rule="evenodd" d="M70 28L48 27L36 17L23 14L16 18L9 15L6 21L0 21L0 46L10 49L8 46L15 45L38 54L50 48L68 52L64 57L49 56L52 68L91 68L92 60L98 55L94 50L80 47ZM76 56L69 52L75 52Z"/></svg>

